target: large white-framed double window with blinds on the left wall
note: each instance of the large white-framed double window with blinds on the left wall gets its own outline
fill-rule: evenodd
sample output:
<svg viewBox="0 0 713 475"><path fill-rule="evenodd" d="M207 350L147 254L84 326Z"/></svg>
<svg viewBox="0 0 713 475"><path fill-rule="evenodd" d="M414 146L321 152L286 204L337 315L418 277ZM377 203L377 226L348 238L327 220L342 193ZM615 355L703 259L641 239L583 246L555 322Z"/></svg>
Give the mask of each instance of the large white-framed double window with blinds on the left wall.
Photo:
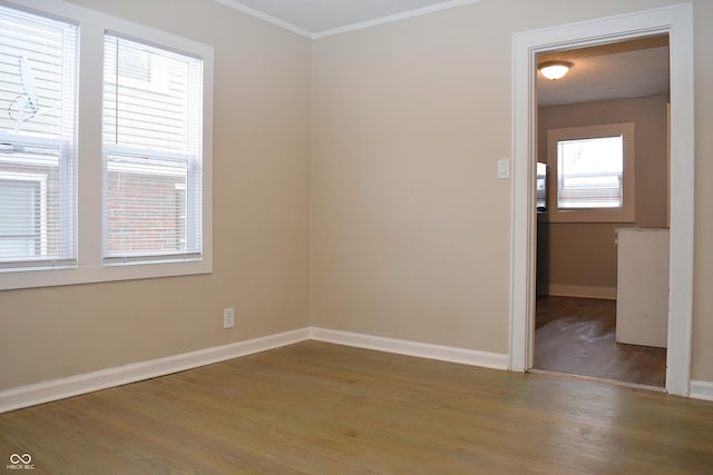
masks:
<svg viewBox="0 0 713 475"><path fill-rule="evenodd" d="M13 3L0 289L212 271L213 48L70 2Z"/></svg>

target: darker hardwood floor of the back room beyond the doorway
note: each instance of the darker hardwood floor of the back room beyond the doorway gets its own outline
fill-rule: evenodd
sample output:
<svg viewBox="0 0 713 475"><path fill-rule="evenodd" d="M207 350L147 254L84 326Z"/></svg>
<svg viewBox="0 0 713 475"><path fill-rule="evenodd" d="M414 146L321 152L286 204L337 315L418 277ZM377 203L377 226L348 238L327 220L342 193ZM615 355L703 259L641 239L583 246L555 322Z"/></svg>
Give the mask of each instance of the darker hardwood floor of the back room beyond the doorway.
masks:
<svg viewBox="0 0 713 475"><path fill-rule="evenodd" d="M616 343L616 300L537 300L535 368L664 387L666 349Z"/></svg>

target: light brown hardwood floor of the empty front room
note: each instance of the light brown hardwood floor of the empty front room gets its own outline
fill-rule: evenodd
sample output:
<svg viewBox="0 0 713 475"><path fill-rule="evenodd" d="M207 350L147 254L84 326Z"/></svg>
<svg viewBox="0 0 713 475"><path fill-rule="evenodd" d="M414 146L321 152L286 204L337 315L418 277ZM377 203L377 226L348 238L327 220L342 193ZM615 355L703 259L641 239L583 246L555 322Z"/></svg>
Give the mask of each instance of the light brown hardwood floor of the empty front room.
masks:
<svg viewBox="0 0 713 475"><path fill-rule="evenodd" d="M36 474L710 474L713 403L305 342L2 414L16 453Z"/></svg>

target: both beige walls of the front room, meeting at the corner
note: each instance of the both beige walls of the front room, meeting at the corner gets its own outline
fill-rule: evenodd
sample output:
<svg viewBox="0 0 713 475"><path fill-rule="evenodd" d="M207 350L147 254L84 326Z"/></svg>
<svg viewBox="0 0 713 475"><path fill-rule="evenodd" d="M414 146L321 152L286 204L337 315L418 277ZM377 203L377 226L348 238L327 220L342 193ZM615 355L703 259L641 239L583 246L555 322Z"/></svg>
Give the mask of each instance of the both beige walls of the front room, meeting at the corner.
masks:
<svg viewBox="0 0 713 475"><path fill-rule="evenodd" d="M481 0L311 43L211 0L75 1L215 47L215 271L0 293L0 388L310 323L507 353L512 33L678 2ZM713 4L694 7L693 377L713 382Z"/></svg>

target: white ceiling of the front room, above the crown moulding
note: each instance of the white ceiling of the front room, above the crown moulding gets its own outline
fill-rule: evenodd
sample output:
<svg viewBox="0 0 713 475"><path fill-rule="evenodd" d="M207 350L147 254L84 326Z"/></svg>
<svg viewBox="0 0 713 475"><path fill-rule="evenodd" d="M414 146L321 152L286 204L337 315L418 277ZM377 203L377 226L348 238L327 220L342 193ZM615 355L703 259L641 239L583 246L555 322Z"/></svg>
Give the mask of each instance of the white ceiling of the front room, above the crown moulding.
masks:
<svg viewBox="0 0 713 475"><path fill-rule="evenodd" d="M479 0L216 0L309 38L430 13Z"/></svg>

